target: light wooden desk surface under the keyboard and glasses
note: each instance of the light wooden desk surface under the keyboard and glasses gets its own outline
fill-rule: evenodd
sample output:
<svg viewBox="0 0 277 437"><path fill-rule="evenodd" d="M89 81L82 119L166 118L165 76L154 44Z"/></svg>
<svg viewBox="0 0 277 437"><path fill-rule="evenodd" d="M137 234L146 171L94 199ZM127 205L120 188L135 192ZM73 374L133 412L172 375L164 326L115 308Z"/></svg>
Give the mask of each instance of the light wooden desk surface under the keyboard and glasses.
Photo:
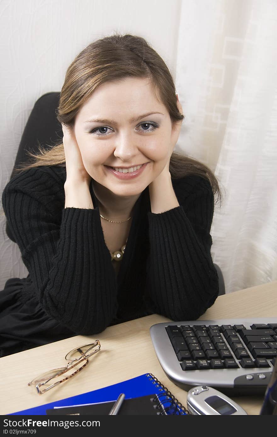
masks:
<svg viewBox="0 0 277 437"><path fill-rule="evenodd" d="M274 281L219 296L200 319L276 315L277 281ZM153 373L186 406L186 392L174 385L165 375L154 352L149 333L151 325L168 320L154 314L111 326L96 336L75 336L0 358L0 414L14 413L96 390L148 372ZM88 366L70 381L43 395L38 395L34 387L27 385L40 373L63 367L66 364L64 356L67 352L91 340L100 340L100 352L91 357ZM263 396L241 396L234 400L248 414L259 414Z"/></svg>

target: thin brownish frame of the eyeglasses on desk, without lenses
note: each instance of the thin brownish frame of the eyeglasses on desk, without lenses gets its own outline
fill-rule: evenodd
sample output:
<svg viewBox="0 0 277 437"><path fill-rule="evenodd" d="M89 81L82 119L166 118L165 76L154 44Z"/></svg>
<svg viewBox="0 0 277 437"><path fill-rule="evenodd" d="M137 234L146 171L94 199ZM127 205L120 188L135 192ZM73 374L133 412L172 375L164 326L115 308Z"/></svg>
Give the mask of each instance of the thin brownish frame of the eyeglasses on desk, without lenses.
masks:
<svg viewBox="0 0 277 437"><path fill-rule="evenodd" d="M79 349L82 349L83 347L87 347L87 346L90 346L90 347L89 347L88 349L86 349L86 350L81 354L81 352L80 352ZM91 349L93 349L94 347L97 347L97 349L94 350L91 354L85 356L85 354L87 354L88 351L91 350ZM72 376L76 375L79 371L81 371L84 367L86 367L86 366L88 365L88 358L91 357L92 355L96 354L97 352L99 352L100 348L101 348L100 341L99 341L99 340L95 340L94 343L88 343L88 344L84 344L83 346L74 347L74 349L72 349L72 350L70 350L69 352L67 352L67 354L66 354L66 356L65 356L65 359L67 360L67 365L66 365L66 367L64 367L64 368L62 368L62 370L56 372L56 374L52 375L52 376L51 376L50 378L48 378L46 381L44 381L44 382L40 382L40 383L38 383L38 384L35 385L35 388L36 388L37 392L39 393L39 395L42 395L43 393L45 393L45 392L47 392L48 390L50 390L50 388L53 388L53 387L55 387L56 385L60 384L61 382L65 382L65 381L67 381L67 379L69 379L69 378L71 378ZM74 350L77 350L78 352L80 352L80 354L81 354L80 357L78 357L78 358L74 358L73 360L68 360L67 356L68 356L71 352L73 352ZM63 374L66 373L68 370L70 370L71 368L74 368L75 366L77 366L77 364L81 363L82 361L85 361L85 363L84 363L80 368L78 368L75 372L73 372L71 375L67 376L66 378L63 378L61 381L57 381L57 382L55 382L54 384L49 385L49 387L47 387L47 388L45 388L45 389L43 389L43 390L40 389L40 387L41 387L42 385L47 384L47 383L48 383L51 379L53 379L53 378L56 378L56 377L58 377L58 376L60 376L60 375L63 375ZM75 363L75 364L72 364L72 363ZM55 369L53 369L53 370L55 370ZM50 370L50 371L51 371L51 370ZM49 372L50 372L50 371L49 371ZM43 374L42 374L42 375L43 375ZM39 378L39 375L38 375L36 378ZM28 385L33 385L32 382L33 382L36 378L32 379L31 382L28 382Z"/></svg>

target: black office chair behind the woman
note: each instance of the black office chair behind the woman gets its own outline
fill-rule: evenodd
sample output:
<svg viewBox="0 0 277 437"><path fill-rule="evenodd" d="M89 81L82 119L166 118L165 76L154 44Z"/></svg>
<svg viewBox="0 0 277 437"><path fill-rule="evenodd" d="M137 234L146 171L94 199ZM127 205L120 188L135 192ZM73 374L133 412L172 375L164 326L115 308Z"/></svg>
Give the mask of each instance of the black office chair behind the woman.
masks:
<svg viewBox="0 0 277 437"><path fill-rule="evenodd" d="M60 93L52 92L44 94L35 102L18 147L18 153L15 158L10 179L15 175L14 169L16 166L30 160L27 151L37 153L39 151L38 144L48 149L51 145L62 142L63 130L60 122L56 118L56 108L59 106L59 98ZM6 223L6 232L9 239L16 243L8 223ZM214 264L214 267L217 270L219 279L218 295L224 295L225 286L221 269L217 264Z"/></svg>

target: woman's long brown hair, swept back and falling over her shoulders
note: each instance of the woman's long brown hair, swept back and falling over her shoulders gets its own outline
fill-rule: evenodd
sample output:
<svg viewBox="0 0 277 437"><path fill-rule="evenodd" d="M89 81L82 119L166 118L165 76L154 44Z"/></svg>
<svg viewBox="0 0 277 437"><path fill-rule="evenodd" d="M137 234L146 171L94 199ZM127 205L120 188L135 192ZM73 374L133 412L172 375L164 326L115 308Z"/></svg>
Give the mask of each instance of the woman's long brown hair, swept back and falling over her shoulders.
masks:
<svg viewBox="0 0 277 437"><path fill-rule="evenodd" d="M60 123L73 127L77 112L99 85L130 76L150 80L154 96L169 112L172 126L185 118L179 112L174 81L161 56L144 38L116 32L89 44L70 64L60 93L57 119ZM38 147L38 154L28 152L35 159L34 162L21 164L14 172L36 166L66 166L63 144L60 141L59 144L50 146L50 149ZM217 178L200 161L173 152L169 171L172 178L176 179L190 174L207 179L221 205L222 195Z"/></svg>

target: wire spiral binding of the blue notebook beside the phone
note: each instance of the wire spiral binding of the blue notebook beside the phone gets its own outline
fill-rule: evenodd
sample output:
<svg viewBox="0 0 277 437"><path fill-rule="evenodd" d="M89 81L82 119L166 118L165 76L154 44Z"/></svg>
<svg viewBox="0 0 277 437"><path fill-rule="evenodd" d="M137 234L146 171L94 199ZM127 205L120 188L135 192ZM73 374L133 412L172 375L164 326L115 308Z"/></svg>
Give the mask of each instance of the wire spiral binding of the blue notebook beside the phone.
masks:
<svg viewBox="0 0 277 437"><path fill-rule="evenodd" d="M159 391L161 393L156 395L155 398L151 400L153 400L153 402L159 402L157 408L159 409L161 415L189 415L189 411L163 384L161 384L161 382L152 373L147 373L146 376L149 378L149 381L152 381L153 384L156 384L156 387L160 387ZM168 402L170 402L170 405L165 406Z"/></svg>

